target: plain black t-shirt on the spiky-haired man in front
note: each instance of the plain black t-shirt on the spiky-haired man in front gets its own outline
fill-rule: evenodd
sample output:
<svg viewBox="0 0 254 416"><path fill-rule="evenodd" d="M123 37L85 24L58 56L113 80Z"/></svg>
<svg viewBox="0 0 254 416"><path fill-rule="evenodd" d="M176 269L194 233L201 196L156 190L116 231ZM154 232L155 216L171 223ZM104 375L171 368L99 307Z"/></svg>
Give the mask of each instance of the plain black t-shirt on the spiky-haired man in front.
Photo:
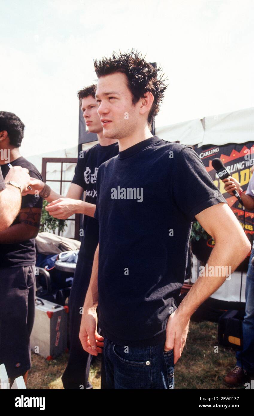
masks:
<svg viewBox="0 0 254 416"><path fill-rule="evenodd" d="M157 136L103 163L97 192L99 326L119 345L158 344L185 279L192 221L227 201L194 150Z"/></svg>

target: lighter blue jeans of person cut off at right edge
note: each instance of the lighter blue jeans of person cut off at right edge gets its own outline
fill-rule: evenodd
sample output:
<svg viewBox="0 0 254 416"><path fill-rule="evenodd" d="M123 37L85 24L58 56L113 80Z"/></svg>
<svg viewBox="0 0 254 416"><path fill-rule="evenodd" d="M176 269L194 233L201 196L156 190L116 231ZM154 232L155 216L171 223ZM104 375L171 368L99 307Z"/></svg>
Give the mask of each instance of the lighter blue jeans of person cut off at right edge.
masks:
<svg viewBox="0 0 254 416"><path fill-rule="evenodd" d="M252 248L249 267L246 276L245 290L245 315L242 324L243 348L237 351L237 365L244 370L254 373L254 267L252 258L254 257L254 248Z"/></svg>

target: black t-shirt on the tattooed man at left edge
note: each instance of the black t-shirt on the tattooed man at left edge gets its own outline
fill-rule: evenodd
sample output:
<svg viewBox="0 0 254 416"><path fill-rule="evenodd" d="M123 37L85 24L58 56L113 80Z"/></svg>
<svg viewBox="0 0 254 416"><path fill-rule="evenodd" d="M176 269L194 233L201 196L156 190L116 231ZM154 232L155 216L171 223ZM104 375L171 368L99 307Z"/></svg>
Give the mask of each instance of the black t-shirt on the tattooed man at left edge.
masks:
<svg viewBox="0 0 254 416"><path fill-rule="evenodd" d="M12 161L11 165L27 168L32 178L37 178L43 181L37 168L22 156ZM1 165L1 168L3 177L5 178L10 168L7 166L7 163L5 165ZM42 208L42 198L38 198L34 195L22 196L21 208L29 207ZM15 224L19 224L18 216L12 223L12 225ZM35 265L35 262L36 250L34 238L22 241L22 243L0 244L0 267L30 266Z"/></svg>

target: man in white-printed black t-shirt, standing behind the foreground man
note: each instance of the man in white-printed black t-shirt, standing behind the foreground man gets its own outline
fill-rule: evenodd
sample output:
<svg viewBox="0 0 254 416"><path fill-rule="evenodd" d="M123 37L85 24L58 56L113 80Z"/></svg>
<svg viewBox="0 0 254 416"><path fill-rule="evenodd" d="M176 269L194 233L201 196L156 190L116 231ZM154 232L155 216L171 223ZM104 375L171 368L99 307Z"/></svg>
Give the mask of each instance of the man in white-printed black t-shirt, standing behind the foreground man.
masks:
<svg viewBox="0 0 254 416"><path fill-rule="evenodd" d="M84 214L83 233L78 262L72 282L69 298L69 333L70 351L67 368L62 376L65 389L91 389L88 382L91 355L81 346L79 327L82 316L82 306L89 285L94 252L99 241L98 220L94 217L96 204L96 176L101 163L118 154L118 144L115 139L105 138L100 118L97 113L98 104L95 100L96 85L90 85L78 92L79 104L89 132L96 133L99 144L82 151L75 168L75 175L66 197L54 192L42 181L31 181L34 193L42 192L49 204L46 210L55 218L66 219L78 213ZM85 201L80 198L85 191ZM103 371L103 368L102 368ZM103 386L103 377L102 377Z"/></svg>

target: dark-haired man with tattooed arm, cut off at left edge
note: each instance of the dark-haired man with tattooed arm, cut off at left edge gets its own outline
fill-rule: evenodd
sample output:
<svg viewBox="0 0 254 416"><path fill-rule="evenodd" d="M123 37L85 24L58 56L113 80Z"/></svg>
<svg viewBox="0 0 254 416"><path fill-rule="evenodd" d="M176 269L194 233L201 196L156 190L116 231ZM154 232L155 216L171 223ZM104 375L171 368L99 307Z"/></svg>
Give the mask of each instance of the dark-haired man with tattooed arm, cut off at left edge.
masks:
<svg viewBox="0 0 254 416"><path fill-rule="evenodd" d="M10 169L21 166L29 171L31 178L42 180L37 168L20 155L25 127L22 121L7 111L0 111L0 120L0 149L10 154L10 164L0 160L2 176L5 178ZM26 383L31 366L29 338L35 316L35 237L41 211L41 197L22 196L17 218L9 228L0 231L0 364L5 364L11 384L21 375Z"/></svg>

